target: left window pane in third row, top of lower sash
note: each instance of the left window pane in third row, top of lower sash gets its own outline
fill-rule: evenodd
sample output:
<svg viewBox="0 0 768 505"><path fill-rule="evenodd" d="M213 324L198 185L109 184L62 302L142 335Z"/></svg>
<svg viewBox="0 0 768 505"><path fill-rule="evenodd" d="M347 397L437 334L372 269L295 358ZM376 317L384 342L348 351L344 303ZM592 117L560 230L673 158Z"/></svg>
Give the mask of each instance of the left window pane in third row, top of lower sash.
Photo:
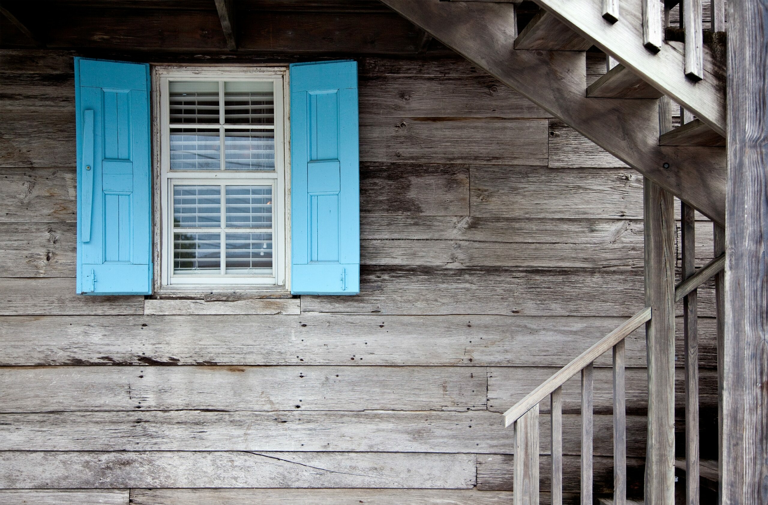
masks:
<svg viewBox="0 0 768 505"><path fill-rule="evenodd" d="M220 186L174 186L174 228L220 226Z"/></svg>

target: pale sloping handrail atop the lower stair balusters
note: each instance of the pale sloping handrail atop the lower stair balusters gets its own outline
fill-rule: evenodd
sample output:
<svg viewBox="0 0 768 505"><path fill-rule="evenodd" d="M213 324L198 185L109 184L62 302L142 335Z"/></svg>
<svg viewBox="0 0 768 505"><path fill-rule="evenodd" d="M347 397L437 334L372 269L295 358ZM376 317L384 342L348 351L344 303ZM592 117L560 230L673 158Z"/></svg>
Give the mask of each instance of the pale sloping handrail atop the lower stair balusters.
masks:
<svg viewBox="0 0 768 505"><path fill-rule="evenodd" d="M650 307L645 307L642 311L634 314L634 316L627 319L620 327L617 327L614 331L607 334L601 341L594 344L587 351L581 353L571 363L565 365L558 370L552 377L545 380L539 387L532 390L525 398L518 401L514 407L507 410L504 413L504 426L508 427L510 424L518 420L523 414L531 410L535 405L538 405L541 400L548 397L554 390L565 384L565 381L578 374L588 364L591 364L594 360L598 359L602 354L607 352L611 347L614 347L618 342L624 340L627 335L631 334L642 324L650 321Z"/></svg>

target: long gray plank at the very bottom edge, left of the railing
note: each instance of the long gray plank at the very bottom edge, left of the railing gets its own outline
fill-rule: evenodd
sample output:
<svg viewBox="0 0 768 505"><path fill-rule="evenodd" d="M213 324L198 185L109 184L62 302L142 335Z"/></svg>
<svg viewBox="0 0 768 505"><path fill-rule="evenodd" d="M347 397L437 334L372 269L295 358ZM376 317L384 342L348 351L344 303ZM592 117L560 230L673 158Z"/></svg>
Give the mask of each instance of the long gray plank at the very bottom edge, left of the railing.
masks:
<svg viewBox="0 0 768 505"><path fill-rule="evenodd" d="M508 505L509 491L366 489L134 489L134 505Z"/></svg>

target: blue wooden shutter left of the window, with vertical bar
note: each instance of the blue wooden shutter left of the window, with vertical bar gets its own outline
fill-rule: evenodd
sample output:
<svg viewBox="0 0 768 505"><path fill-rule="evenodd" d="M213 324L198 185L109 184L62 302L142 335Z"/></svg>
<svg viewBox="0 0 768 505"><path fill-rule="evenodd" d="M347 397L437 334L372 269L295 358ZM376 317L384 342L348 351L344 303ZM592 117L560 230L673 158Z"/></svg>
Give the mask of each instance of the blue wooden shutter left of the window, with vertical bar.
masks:
<svg viewBox="0 0 768 505"><path fill-rule="evenodd" d="M78 293L150 294L149 65L74 58Z"/></svg>

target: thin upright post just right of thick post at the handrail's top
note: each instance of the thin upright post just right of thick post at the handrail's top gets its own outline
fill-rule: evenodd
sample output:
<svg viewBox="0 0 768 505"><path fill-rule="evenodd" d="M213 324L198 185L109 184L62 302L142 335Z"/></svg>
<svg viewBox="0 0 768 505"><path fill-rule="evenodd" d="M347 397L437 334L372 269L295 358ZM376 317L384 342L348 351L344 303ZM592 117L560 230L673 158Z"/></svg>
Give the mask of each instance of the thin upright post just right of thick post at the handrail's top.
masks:
<svg viewBox="0 0 768 505"><path fill-rule="evenodd" d="M683 227L683 280L696 273L696 217L680 205ZM685 350L685 503L699 505L699 342L697 290L683 298Z"/></svg>

